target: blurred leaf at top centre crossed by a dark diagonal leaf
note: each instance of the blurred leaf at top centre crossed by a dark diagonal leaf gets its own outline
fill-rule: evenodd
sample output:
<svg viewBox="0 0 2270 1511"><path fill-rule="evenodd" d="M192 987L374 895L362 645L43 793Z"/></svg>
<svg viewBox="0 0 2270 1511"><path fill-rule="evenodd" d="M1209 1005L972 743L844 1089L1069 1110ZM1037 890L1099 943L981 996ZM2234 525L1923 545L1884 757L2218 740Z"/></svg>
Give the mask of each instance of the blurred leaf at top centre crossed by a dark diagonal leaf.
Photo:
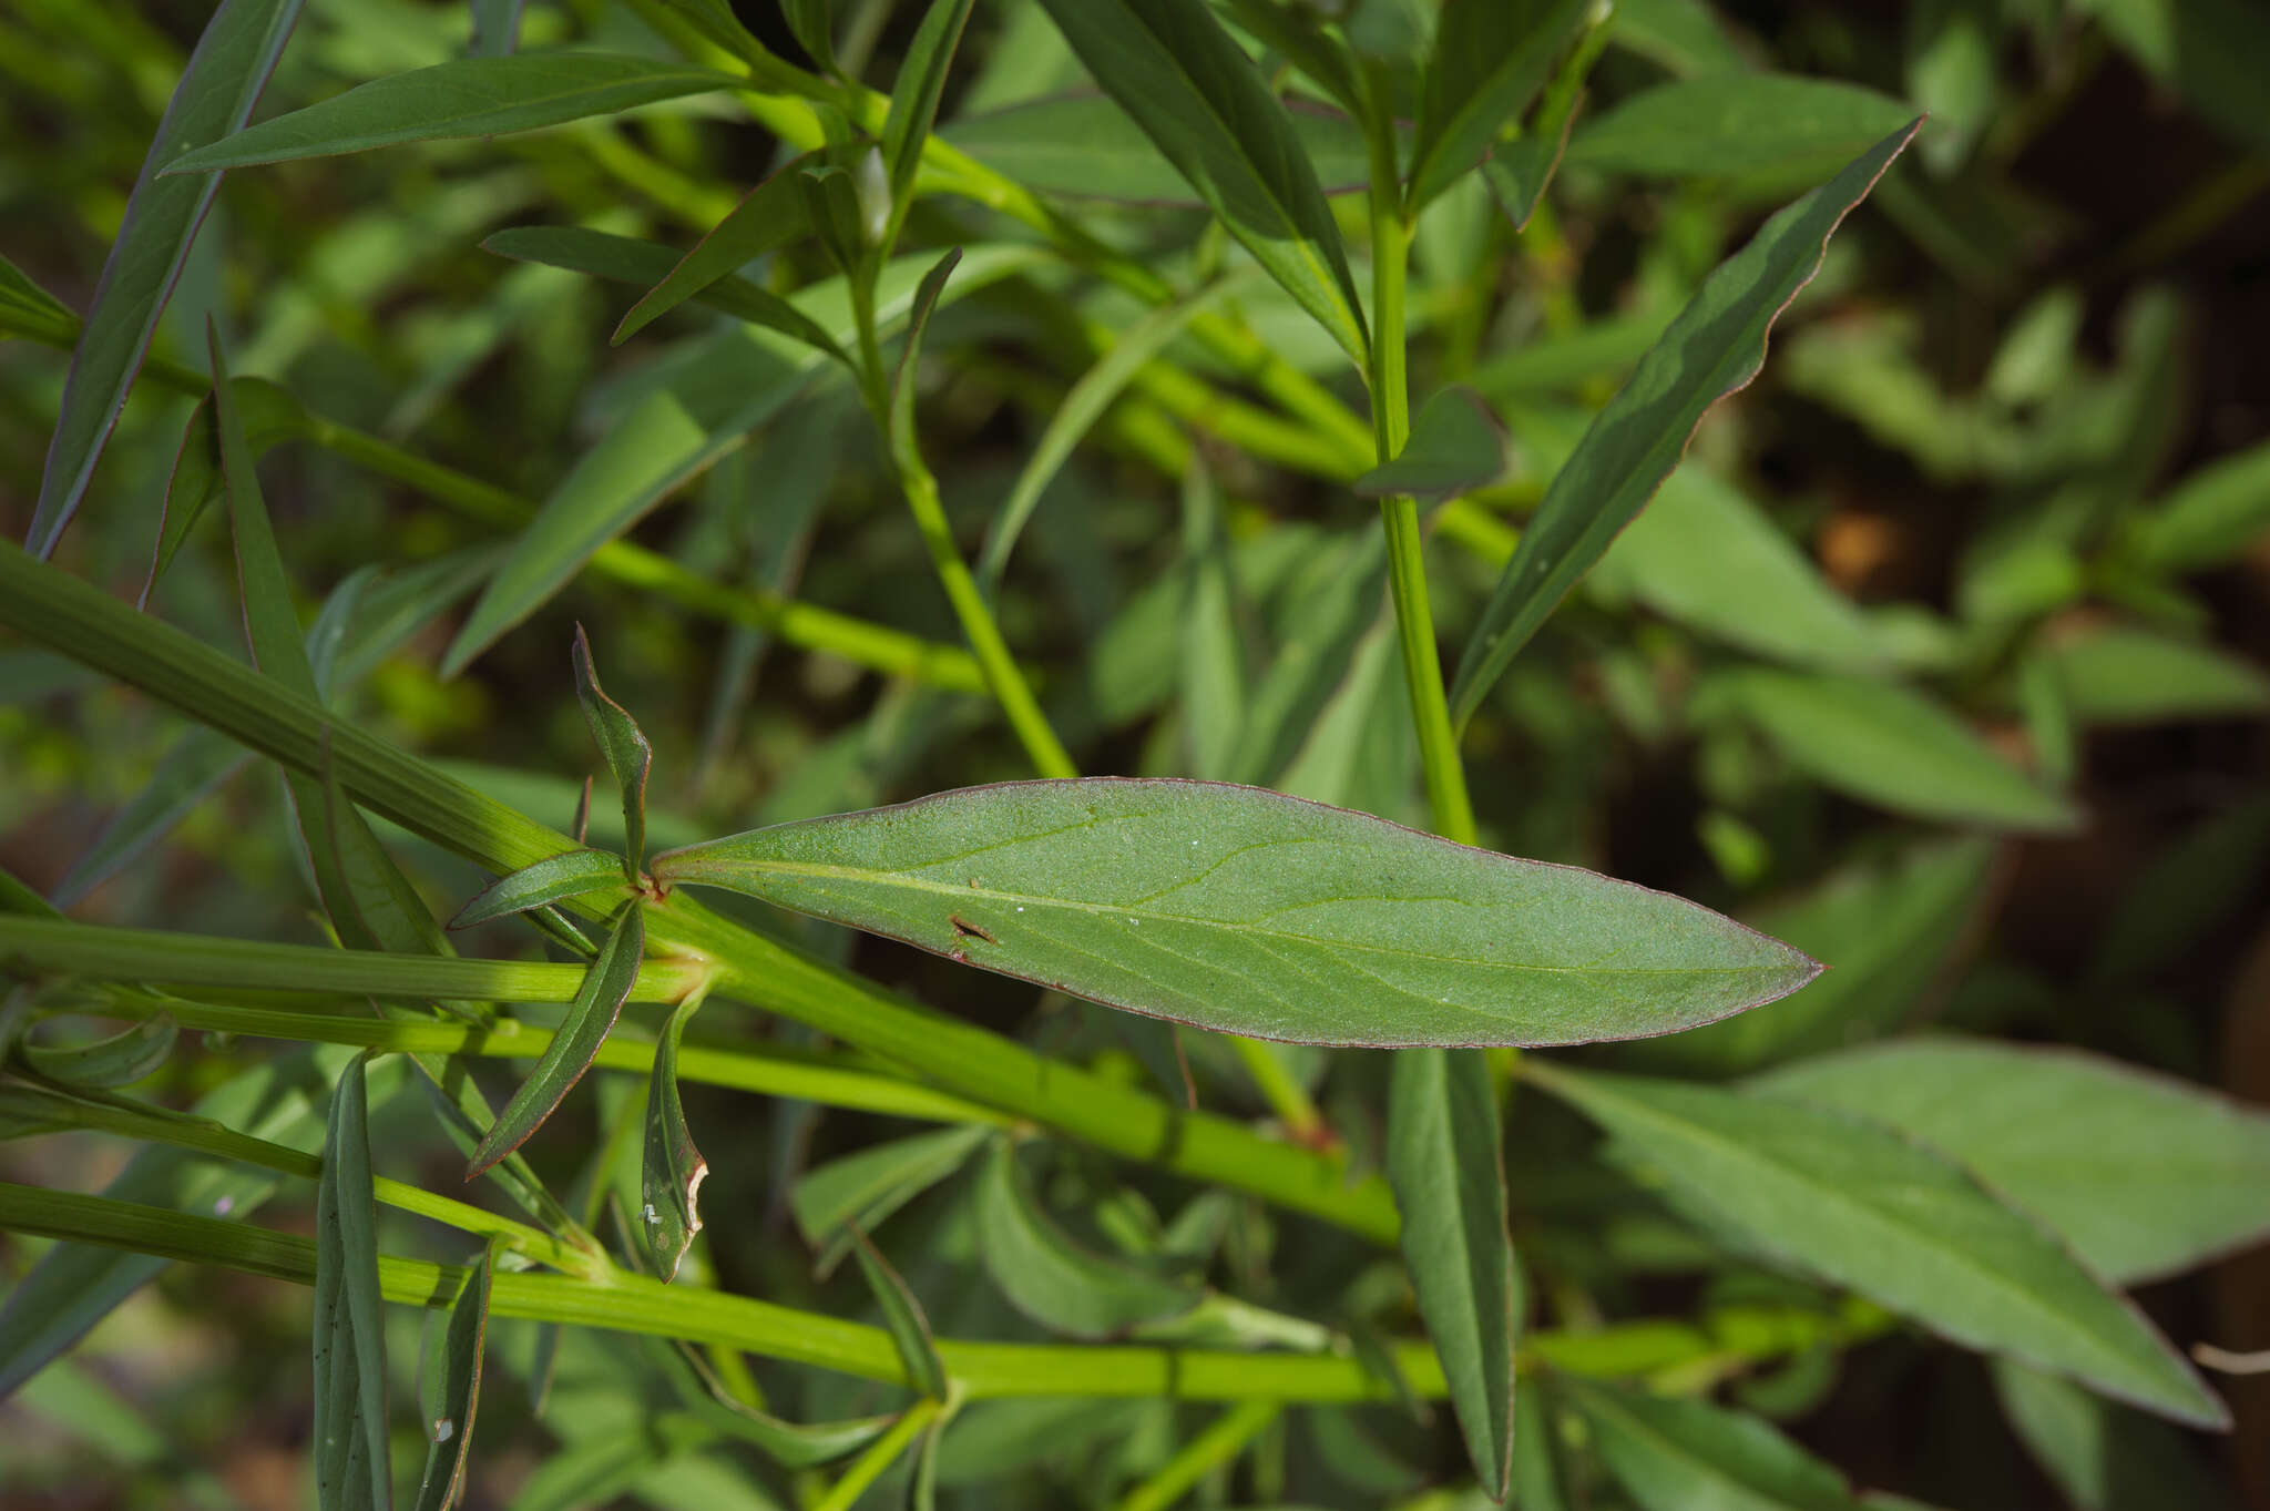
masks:
<svg viewBox="0 0 2270 1511"><path fill-rule="evenodd" d="M1285 118L1326 195L1355 193L1371 182L1371 150L1364 145L1364 127L1353 118L1298 100L1285 104ZM1205 204L1110 95L1028 100L965 116L938 134L1044 195L1189 209Z"/></svg>

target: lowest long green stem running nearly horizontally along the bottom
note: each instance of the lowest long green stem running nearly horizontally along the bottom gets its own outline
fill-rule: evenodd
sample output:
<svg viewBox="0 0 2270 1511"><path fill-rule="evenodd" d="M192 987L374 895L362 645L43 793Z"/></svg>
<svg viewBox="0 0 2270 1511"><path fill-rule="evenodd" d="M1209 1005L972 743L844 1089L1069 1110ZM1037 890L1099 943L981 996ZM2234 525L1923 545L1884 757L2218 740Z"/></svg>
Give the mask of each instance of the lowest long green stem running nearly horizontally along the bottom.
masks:
<svg viewBox="0 0 2270 1511"><path fill-rule="evenodd" d="M102 1196L0 1182L0 1227L186 1264L216 1264L293 1284L316 1282L313 1239ZM443 1309L454 1305L463 1282L465 1271L454 1264L379 1255L379 1289L390 1302ZM899 1348L881 1327L701 1286L667 1286L624 1271L615 1271L608 1284L570 1275L499 1273L490 1316L717 1343L788 1364L908 1384ZM1846 1300L1836 1311L1718 1307L1693 1323L1639 1320L1591 1332L1530 1334L1519 1366L1634 1377L1718 1354L1768 1364L1809 1348L1861 1343L1891 1332L1893 1325L1891 1314L1859 1300ZM1394 1343L1392 1350L1396 1368L1414 1393L1441 1398L1441 1366L1426 1343ZM1385 1379L1344 1354L940 1339L938 1357L969 1400L1001 1395L1394 1400L1394 1388Z"/></svg>

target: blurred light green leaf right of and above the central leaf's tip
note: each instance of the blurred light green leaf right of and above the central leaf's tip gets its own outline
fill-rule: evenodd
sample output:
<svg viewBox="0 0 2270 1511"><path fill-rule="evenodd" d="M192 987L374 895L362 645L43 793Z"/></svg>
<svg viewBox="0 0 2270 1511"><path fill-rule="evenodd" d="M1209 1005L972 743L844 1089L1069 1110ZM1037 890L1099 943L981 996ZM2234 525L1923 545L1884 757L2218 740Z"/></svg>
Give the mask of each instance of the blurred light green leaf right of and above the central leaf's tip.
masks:
<svg viewBox="0 0 2270 1511"><path fill-rule="evenodd" d="M1741 667L1712 676L1696 701L1737 710L1791 765L1866 803L2011 830L2079 821L2066 799L2034 785L1948 708L1909 687Z"/></svg>

